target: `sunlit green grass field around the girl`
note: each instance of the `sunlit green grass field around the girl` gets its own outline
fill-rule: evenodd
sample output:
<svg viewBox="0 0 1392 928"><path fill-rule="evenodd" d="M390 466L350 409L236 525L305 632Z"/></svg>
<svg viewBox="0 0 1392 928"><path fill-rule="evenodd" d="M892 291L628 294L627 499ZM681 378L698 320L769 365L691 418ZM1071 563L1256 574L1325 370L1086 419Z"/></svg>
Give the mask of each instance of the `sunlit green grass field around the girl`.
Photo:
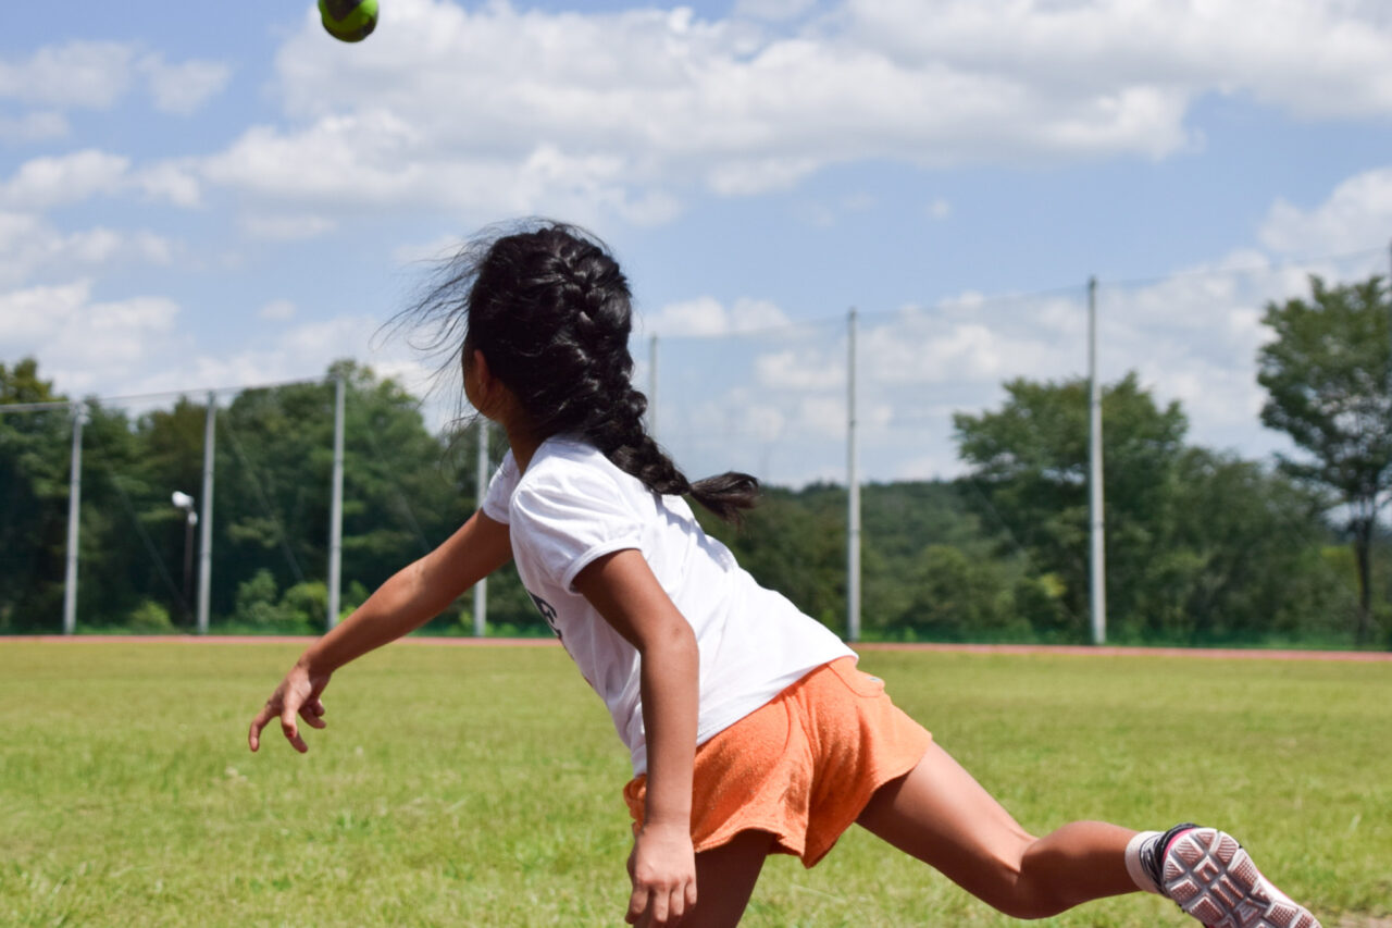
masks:
<svg viewBox="0 0 1392 928"><path fill-rule="evenodd" d="M287 645L0 642L0 924L617 925L625 751L558 648L394 647L296 755ZM1237 833L1325 925L1392 914L1392 665L869 652L1027 828ZM852 829L746 925L1008 925ZM1129 896L1050 925L1185 925ZM1366 924L1366 922L1364 922Z"/></svg>

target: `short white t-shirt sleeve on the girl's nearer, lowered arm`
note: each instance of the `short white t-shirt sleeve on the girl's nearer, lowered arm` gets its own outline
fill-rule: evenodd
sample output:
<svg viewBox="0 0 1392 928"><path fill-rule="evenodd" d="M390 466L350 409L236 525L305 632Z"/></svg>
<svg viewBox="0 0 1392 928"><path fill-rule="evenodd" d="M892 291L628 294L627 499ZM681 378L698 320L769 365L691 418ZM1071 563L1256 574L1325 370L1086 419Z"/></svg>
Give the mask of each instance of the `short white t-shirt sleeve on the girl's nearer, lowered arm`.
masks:
<svg viewBox="0 0 1392 928"><path fill-rule="evenodd" d="M529 475L512 499L511 528L512 543L565 589L597 557L640 548L643 538L642 516L614 477L569 461Z"/></svg>

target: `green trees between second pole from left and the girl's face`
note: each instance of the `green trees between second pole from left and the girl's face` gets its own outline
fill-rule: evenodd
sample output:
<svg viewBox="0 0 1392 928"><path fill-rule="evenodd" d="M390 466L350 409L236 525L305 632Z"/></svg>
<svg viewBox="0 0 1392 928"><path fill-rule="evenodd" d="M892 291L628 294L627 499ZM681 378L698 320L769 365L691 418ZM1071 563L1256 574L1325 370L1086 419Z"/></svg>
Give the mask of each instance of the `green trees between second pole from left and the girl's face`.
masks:
<svg viewBox="0 0 1392 928"><path fill-rule="evenodd" d="M329 375L347 387L342 581L370 589L468 518L473 456L451 456L426 428L419 401L391 379L352 361L334 362ZM277 599L323 580L333 399L331 383L295 383L244 390L219 414L214 613L232 614L239 584L262 570ZM530 616L540 621L535 608Z"/></svg>

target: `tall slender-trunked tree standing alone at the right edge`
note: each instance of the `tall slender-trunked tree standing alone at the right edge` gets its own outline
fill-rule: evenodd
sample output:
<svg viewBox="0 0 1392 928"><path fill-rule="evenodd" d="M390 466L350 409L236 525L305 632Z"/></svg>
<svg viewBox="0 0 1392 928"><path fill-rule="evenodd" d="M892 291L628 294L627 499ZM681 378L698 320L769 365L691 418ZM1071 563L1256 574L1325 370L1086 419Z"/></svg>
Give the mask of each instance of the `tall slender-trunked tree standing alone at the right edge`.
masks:
<svg viewBox="0 0 1392 928"><path fill-rule="evenodd" d="M1310 277L1310 300L1267 304L1275 339L1257 353L1268 399L1261 421L1286 432L1310 460L1282 457L1292 477L1327 486L1345 507L1359 574L1354 641L1371 633L1373 534L1392 489L1392 350L1381 277L1329 287Z"/></svg>

